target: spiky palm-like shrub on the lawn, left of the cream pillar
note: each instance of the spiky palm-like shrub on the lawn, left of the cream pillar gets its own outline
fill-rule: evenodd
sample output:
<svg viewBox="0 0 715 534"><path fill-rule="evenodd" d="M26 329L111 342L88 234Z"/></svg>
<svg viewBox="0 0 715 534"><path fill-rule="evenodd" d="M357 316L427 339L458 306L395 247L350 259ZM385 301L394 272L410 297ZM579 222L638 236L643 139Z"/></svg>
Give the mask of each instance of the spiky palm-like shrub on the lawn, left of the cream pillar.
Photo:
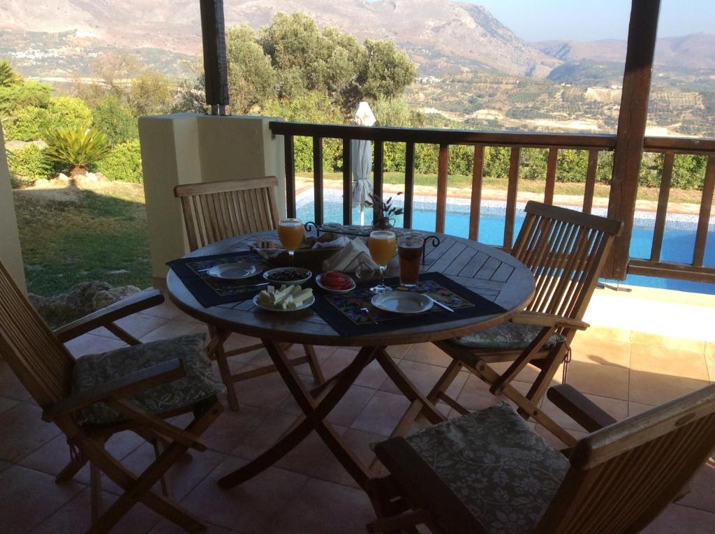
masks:
<svg viewBox="0 0 715 534"><path fill-rule="evenodd" d="M107 136L94 128L60 128L47 134L46 157L69 167L69 175L87 174L87 168L101 161L111 147Z"/></svg>

